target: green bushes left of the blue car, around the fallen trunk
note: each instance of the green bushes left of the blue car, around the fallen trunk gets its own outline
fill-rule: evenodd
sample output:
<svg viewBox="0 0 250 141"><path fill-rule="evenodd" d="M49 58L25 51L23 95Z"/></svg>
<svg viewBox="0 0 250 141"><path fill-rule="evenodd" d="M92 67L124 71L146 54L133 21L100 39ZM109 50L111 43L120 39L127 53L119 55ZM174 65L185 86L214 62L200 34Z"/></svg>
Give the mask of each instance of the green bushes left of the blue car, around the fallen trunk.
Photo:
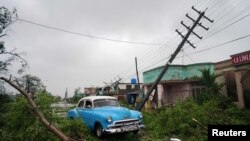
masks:
<svg viewBox="0 0 250 141"><path fill-rule="evenodd" d="M74 139L91 139L89 131L79 120L69 121L65 118L52 116L50 105L54 97L39 93L34 97L39 110L49 122L59 127L65 134ZM8 110L3 113L4 126L1 126L0 141L29 140L29 141L59 141L34 115L26 99L21 96L15 102L8 104Z"/></svg>

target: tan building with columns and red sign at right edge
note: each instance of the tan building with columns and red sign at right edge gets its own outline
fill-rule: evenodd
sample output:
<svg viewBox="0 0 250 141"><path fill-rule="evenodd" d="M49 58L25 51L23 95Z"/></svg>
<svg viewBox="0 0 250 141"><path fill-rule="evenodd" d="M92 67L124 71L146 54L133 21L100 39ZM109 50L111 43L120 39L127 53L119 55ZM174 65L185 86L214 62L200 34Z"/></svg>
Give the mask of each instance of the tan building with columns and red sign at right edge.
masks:
<svg viewBox="0 0 250 141"><path fill-rule="evenodd" d="M249 54L249 58L238 60L235 64L235 56ZM232 59L215 63L215 74L219 75L217 82L224 84L222 94L231 97L239 107L245 107L244 93L250 92L250 53L249 51L231 56ZM237 58L237 59L238 59Z"/></svg>

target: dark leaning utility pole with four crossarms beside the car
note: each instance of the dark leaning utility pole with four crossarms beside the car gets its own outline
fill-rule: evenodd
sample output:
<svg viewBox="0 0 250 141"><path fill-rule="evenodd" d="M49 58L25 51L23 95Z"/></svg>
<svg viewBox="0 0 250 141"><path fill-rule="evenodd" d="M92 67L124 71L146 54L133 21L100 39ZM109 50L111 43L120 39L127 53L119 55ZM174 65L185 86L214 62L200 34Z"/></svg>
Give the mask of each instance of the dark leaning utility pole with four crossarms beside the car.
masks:
<svg viewBox="0 0 250 141"><path fill-rule="evenodd" d="M201 26L202 28L204 28L205 30L208 30L208 28L204 27L201 23L199 23L199 21L201 20L201 18L205 18L210 22L213 22L213 20L210 20L208 17L205 16L205 11L200 12L198 10L196 10L194 8L194 6L192 6L192 9L194 11L196 11L199 14L198 19L195 21L194 19L192 19L191 17L188 16L188 14L186 14L186 16L192 20L194 22L193 26L190 28L188 26L186 26L183 21L181 22L181 24L183 26L185 26L188 30L188 33L183 36L178 30L176 30L176 32L183 38L183 40L181 41L181 43L179 44L179 46L176 48L176 50L174 51L174 53L171 55L170 59L167 61L167 63L165 64L164 68L162 69L160 75L157 77L157 79L155 80L154 84L152 85L152 87L149 89L149 91L147 91L146 96L144 98L144 100L142 101L142 103L137 107L137 110L141 111L142 107L144 106L144 104L146 103L146 101L148 100L149 96L151 95L152 91L154 89L156 89L156 86L158 85L158 83L160 82L162 76L165 74L165 72L168 70L169 65L173 62L173 60L175 59L175 57L177 56L177 54L180 52L181 48L183 47L183 45L187 42L189 43L193 48L194 45L188 40L188 37L191 33L193 33L194 35L196 35L198 38L202 39L202 37L198 36L195 32L193 32L194 28L196 27L196 25Z"/></svg>

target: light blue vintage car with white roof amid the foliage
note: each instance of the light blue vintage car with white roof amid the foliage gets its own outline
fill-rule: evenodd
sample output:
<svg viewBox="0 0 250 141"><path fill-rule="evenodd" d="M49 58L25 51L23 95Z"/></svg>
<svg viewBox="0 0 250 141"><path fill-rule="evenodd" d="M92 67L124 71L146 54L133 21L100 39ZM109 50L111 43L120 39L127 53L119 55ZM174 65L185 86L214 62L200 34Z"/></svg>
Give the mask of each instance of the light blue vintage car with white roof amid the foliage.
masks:
<svg viewBox="0 0 250 141"><path fill-rule="evenodd" d="M104 134L138 133L144 125L139 111L121 107L111 96L89 96L80 99L76 108L69 110L69 119L81 118L98 137Z"/></svg>

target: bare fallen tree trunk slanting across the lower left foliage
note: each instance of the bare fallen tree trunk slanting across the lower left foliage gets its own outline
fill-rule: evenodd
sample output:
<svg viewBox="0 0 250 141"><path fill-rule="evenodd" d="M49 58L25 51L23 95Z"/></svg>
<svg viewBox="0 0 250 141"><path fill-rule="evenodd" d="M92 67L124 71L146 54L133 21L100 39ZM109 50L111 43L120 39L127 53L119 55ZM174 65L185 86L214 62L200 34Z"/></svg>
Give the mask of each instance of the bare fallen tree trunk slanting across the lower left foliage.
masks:
<svg viewBox="0 0 250 141"><path fill-rule="evenodd" d="M25 96L25 98L27 99L27 101L29 102L30 106L32 107L33 112L36 114L36 116L39 118L39 120L42 122L42 124L50 131L52 132L55 136L57 136L60 140L62 141L73 141L73 139L67 137L66 135L64 135L64 133L62 133L60 130L58 130L54 125L52 125L50 122L48 122L48 120L44 117L43 113L41 113L39 111L39 109L37 108L36 103L33 101L33 99L30 97L30 95L28 93L26 93L23 89L21 89L18 85L16 85L15 83L13 83L12 81L4 78L4 77L0 77L0 79L4 80L5 82L7 82L8 84L10 84L12 87L14 87L16 90L18 90L22 95Z"/></svg>

